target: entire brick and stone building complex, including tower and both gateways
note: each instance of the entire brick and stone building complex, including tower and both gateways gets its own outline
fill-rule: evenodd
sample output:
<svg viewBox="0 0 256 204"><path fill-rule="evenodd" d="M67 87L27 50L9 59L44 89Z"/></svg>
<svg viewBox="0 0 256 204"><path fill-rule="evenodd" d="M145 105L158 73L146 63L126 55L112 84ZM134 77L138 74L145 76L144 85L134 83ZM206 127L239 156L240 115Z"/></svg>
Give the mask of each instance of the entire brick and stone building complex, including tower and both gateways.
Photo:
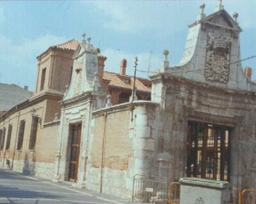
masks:
<svg viewBox="0 0 256 204"><path fill-rule="evenodd" d="M241 66L238 15L230 17L221 1L211 15L204 8L189 25L180 64L170 67L164 50L162 72L150 77L151 97L150 82L138 78L139 99L128 101L133 78L124 75L126 62L120 74L104 72L106 57L85 35L75 51L63 49L70 42L49 48L42 57L64 51L70 64L56 60L48 70L47 59L59 56L54 54L40 61L35 96L2 116L2 138L4 129L8 134L1 157L10 157L19 171L24 163L22 168L30 165L36 175L125 198L134 192L136 175L166 182L226 180L238 189L255 188L256 84L252 69ZM58 62L67 69L66 91L54 74L65 69ZM20 120L28 121L27 130ZM23 132L19 151L15 137L19 144Z"/></svg>

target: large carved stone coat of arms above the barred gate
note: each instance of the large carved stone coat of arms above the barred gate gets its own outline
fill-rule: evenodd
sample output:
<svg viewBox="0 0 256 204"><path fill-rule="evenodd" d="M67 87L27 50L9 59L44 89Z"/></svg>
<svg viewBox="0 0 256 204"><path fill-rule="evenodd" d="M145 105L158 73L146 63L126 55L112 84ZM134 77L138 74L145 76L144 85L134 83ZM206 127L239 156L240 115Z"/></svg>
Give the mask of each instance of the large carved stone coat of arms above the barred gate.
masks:
<svg viewBox="0 0 256 204"><path fill-rule="evenodd" d="M204 72L206 80L220 83L228 82L230 51L230 38L208 36Z"/></svg>

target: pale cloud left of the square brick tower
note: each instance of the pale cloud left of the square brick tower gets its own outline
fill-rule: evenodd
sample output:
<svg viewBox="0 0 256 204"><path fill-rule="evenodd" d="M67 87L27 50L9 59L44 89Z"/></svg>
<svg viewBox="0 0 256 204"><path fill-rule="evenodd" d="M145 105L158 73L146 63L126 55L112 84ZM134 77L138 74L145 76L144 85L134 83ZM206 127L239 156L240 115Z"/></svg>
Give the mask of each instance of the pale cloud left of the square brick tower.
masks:
<svg viewBox="0 0 256 204"><path fill-rule="evenodd" d="M34 39L23 39L17 44L0 34L0 82L8 84L29 85L35 87L36 56L51 45L63 43L67 39L45 35Z"/></svg>

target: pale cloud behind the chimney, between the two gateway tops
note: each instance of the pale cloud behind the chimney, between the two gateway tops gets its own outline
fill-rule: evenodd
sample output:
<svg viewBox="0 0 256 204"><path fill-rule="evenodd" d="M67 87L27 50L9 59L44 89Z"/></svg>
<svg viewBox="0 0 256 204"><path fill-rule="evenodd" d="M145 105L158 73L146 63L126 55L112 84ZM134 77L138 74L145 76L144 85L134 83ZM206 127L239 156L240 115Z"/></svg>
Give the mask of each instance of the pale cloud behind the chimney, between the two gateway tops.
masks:
<svg viewBox="0 0 256 204"><path fill-rule="evenodd" d="M138 77L148 77L148 67L150 71L155 71L159 66L161 66L161 57L153 52L127 52L124 50L114 50L113 48L108 48L102 52L103 55L106 55L108 59L105 62L105 70L119 73L120 72L120 61L122 59L127 60L127 75L134 75L134 57L138 57ZM152 75L150 73L149 75Z"/></svg>

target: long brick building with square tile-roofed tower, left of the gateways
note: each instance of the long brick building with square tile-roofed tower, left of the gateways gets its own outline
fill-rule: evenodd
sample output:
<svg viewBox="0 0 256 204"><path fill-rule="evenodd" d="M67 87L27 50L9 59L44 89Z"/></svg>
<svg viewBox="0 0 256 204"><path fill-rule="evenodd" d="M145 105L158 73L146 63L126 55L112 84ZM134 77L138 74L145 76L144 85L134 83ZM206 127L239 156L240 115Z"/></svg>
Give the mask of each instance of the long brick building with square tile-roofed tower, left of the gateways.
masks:
<svg viewBox="0 0 256 204"><path fill-rule="evenodd" d="M15 171L51 177L54 173L60 104L70 82L76 41L52 46L37 57L33 96L3 115L0 121L1 166ZM51 142L49 142L51 141Z"/></svg>

